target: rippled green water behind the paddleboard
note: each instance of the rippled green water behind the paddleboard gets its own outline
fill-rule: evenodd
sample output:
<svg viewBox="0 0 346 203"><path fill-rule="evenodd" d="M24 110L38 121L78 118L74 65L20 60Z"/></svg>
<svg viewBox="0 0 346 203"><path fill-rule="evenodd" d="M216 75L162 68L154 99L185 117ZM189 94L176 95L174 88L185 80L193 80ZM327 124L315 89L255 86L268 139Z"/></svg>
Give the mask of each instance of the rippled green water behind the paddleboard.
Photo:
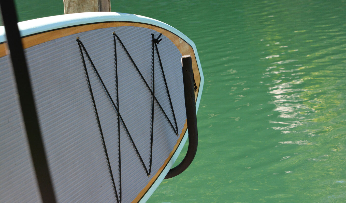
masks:
<svg viewBox="0 0 346 203"><path fill-rule="evenodd" d="M63 14L62 0L16 4L21 21ZM148 202L346 202L345 0L111 6L183 32L204 72L195 160Z"/></svg>

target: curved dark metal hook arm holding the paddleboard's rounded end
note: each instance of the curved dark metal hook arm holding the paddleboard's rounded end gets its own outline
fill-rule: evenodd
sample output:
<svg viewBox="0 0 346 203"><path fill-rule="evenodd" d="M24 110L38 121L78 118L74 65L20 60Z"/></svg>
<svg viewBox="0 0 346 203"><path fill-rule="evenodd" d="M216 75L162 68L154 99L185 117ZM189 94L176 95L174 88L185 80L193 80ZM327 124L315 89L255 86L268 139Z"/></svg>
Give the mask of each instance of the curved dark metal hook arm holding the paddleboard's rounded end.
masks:
<svg viewBox="0 0 346 203"><path fill-rule="evenodd" d="M196 155L198 145L196 103L193 89L194 80L191 56L181 57L181 63L183 68L186 120L188 123L189 131L189 147L183 161L181 161L181 163L174 168L171 168L171 170L167 173L165 179L177 176L189 167Z"/></svg>

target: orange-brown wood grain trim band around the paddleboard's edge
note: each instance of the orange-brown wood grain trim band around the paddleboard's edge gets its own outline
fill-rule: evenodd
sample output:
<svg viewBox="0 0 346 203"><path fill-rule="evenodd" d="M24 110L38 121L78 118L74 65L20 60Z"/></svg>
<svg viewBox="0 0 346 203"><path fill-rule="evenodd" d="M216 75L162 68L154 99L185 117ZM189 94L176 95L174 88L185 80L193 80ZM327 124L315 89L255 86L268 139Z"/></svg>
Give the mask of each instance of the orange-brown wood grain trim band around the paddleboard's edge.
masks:
<svg viewBox="0 0 346 203"><path fill-rule="evenodd" d="M24 49L33 47L35 45L38 45L40 43L54 40L57 38L73 35L76 33L81 33L85 31L90 31L90 30L96 30L96 29L102 29L102 28L110 28L110 27L121 27L121 26L133 26L133 27L142 27L142 28L148 28L155 30L157 32L162 33L164 36L169 38L174 45L179 49L181 52L182 56L184 55L191 55L192 57L192 69L193 69L193 74L194 74L194 79L195 82L198 86L197 91L195 91L195 100L197 100L198 92L199 92L199 86L200 86L200 73L197 65L197 60L193 51L193 48L183 39L175 35L174 33L162 29L160 27L156 27L153 25L148 25L148 24L143 24L143 23L136 23L136 22L104 22L104 23L96 23L96 24L88 24L88 25L81 25L81 26L74 26L74 27L68 27L68 28L62 28L62 29L57 29L57 30L52 30L52 31L47 31L47 32L42 32L42 33L37 33L35 35L30 35L27 37L22 38L22 44ZM0 57L6 56L8 53L7 50L7 43L2 43L0 45ZM184 128L182 129L182 132L179 135L179 138L177 140L177 143L175 144L173 150L169 154L169 157L165 160L164 164L160 167L158 172L153 175L149 183L144 187L144 189L137 195L137 197L132 201L133 203L139 202L142 197L145 195L145 193L150 189L150 187L153 185L153 183L156 181L158 176L162 173L166 165L169 163L171 160L173 154L175 153L176 149L180 145L182 138L185 135L185 132L187 130L187 123L185 122Z"/></svg>

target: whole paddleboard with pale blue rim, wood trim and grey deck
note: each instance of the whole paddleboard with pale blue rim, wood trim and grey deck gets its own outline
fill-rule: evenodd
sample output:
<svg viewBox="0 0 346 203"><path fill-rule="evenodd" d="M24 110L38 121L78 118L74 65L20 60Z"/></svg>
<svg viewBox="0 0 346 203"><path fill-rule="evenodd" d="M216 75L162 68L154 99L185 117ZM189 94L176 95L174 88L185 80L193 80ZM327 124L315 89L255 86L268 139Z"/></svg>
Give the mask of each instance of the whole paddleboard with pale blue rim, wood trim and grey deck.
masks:
<svg viewBox="0 0 346 203"><path fill-rule="evenodd" d="M192 56L199 106L204 79L193 42L165 23L124 13L18 26L58 202L145 202L188 136L183 55ZM0 27L0 199L39 202L6 47Z"/></svg>

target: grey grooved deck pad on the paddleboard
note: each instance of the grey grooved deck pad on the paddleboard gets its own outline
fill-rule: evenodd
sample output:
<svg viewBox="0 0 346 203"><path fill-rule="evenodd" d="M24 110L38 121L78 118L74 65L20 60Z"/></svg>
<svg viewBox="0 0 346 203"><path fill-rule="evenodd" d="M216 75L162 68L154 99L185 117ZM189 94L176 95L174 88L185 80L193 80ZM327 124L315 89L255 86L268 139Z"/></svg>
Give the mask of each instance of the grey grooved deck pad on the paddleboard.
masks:
<svg viewBox="0 0 346 203"><path fill-rule="evenodd" d="M174 149L175 127L160 63L154 50L155 101L151 176L150 165L152 94L130 61L118 39L124 43L149 88L153 89L152 33L141 27L113 27L76 33L25 49L40 129L49 170L58 202L117 202L113 190L100 128L107 147L110 167L120 196L118 115L116 103L115 46L117 50L121 148L121 202L131 202L148 185ZM83 50L90 87L95 98L100 127L86 79L81 51L82 41L105 84ZM181 70L182 54L170 39L161 36L157 44L167 86L172 99L178 134L186 113ZM40 195L21 116L10 55L0 67L0 181L1 202L39 202ZM125 125L133 138L131 142Z"/></svg>

